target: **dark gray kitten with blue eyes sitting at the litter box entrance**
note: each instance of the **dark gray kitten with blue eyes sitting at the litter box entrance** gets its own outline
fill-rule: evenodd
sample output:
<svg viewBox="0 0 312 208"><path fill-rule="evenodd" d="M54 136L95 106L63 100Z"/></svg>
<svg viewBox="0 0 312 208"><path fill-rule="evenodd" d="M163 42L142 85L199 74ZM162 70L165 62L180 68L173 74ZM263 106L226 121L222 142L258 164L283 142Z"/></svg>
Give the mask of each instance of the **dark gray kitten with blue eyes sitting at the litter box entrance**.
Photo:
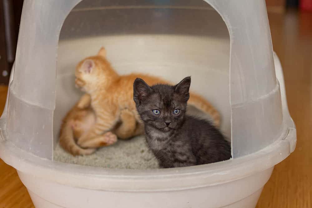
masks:
<svg viewBox="0 0 312 208"><path fill-rule="evenodd" d="M228 160L231 146L208 121L186 115L191 77L178 85L147 85L137 78L134 102L146 141L160 167L185 167Z"/></svg>

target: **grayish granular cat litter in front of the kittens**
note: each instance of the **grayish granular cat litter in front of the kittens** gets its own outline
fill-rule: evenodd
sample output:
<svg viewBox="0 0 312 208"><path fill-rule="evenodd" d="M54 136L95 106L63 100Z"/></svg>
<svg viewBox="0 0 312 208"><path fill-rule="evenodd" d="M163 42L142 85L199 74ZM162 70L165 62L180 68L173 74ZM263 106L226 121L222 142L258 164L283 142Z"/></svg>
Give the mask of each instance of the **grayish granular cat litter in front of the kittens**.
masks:
<svg viewBox="0 0 312 208"><path fill-rule="evenodd" d="M114 145L103 147L94 154L72 156L59 144L54 150L54 160L78 165L117 169L155 169L158 161L147 147L144 136L118 140Z"/></svg>

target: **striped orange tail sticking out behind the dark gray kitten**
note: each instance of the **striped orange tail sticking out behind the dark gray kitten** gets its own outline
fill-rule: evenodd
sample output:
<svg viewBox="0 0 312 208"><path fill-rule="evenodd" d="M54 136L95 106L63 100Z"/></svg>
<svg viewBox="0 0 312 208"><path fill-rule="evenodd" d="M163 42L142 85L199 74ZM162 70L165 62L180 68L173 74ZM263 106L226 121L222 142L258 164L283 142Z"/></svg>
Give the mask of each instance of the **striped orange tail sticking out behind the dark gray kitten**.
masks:
<svg viewBox="0 0 312 208"><path fill-rule="evenodd" d="M215 127L220 127L220 113L202 96L195 93L190 93L190 99L188 100L188 104L193 105L197 109L209 114L214 121Z"/></svg>

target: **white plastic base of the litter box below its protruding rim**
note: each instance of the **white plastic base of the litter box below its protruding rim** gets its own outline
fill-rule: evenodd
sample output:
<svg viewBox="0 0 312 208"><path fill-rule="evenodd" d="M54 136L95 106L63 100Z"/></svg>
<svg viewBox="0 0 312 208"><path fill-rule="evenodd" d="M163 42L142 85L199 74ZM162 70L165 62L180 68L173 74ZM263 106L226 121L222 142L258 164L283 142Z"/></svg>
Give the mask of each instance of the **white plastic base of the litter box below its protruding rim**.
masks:
<svg viewBox="0 0 312 208"><path fill-rule="evenodd" d="M215 186L180 191L103 191L65 186L18 172L36 208L253 208L273 167L255 175ZM181 181L183 182L183 181Z"/></svg>

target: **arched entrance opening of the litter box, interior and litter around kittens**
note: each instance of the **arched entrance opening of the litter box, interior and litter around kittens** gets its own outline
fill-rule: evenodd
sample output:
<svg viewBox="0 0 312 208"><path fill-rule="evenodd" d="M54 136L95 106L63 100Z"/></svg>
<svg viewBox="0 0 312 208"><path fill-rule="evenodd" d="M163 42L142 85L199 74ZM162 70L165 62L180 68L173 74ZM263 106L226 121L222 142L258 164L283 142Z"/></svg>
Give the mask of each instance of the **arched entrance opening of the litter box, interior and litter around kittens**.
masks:
<svg viewBox="0 0 312 208"><path fill-rule="evenodd" d="M109 168L157 168L143 136L73 157L58 143L61 120L82 95L75 67L101 46L119 74L144 73L177 83L192 76L191 90L221 114L221 131L231 139L230 38L221 16L196 1L81 1L67 16L57 56L54 160ZM129 90L129 89L125 89ZM132 90L132 89L131 89ZM209 118L195 108L190 112Z"/></svg>

